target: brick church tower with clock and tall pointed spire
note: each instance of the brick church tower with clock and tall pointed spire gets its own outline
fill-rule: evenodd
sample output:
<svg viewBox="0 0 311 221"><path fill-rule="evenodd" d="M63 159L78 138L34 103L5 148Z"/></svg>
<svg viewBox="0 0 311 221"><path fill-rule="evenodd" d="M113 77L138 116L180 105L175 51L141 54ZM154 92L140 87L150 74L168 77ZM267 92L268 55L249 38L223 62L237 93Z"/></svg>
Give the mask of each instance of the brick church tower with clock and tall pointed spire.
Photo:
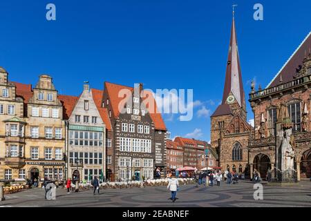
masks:
<svg viewBox="0 0 311 221"><path fill-rule="evenodd" d="M246 158L244 157L244 148L246 149L245 155L247 155L245 139L248 141L248 138L244 136L248 134L251 128L247 124L246 116L245 93L240 58L238 56L238 41L233 11L223 100L213 115L211 115L211 147L217 149L220 166L223 169L229 166L230 171L232 167L235 167L236 171L238 171L238 166L245 167L241 160L247 161L247 159L243 158ZM240 135L243 137L243 141L239 139L238 136ZM231 137L230 140L228 140L229 137ZM227 141L224 142L225 140ZM234 146L238 150L236 153L233 149ZM234 162L239 163L235 164Z"/></svg>

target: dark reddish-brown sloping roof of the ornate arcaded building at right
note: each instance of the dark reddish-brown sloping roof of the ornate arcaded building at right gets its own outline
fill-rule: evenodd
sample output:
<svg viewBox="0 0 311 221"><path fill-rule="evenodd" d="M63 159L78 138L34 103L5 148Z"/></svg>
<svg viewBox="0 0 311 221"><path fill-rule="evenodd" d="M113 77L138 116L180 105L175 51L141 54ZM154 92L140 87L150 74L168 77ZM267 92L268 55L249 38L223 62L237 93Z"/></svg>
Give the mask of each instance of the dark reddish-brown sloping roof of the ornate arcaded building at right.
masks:
<svg viewBox="0 0 311 221"><path fill-rule="evenodd" d="M298 68L299 65L302 65L305 53L307 53L308 55L310 53L310 50L311 32L307 37L305 37L299 48L296 49L290 59L288 59L288 61L284 64L279 73L276 74L276 77L272 79L267 88L274 87L279 84L285 84L288 81L292 81L294 79L294 76L296 75L296 68ZM281 76L282 82L280 82Z"/></svg>

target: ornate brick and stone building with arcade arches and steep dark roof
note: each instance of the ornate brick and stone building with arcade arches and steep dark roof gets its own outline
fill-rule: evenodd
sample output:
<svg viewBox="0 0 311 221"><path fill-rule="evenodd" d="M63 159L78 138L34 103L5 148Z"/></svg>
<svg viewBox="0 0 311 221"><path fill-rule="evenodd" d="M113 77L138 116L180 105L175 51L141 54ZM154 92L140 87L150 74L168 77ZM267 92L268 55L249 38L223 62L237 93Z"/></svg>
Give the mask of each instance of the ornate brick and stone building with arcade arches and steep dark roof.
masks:
<svg viewBox="0 0 311 221"><path fill-rule="evenodd" d="M298 180L311 177L310 88L311 32L265 89L252 84L251 170L263 176L267 169L288 169L292 160Z"/></svg>

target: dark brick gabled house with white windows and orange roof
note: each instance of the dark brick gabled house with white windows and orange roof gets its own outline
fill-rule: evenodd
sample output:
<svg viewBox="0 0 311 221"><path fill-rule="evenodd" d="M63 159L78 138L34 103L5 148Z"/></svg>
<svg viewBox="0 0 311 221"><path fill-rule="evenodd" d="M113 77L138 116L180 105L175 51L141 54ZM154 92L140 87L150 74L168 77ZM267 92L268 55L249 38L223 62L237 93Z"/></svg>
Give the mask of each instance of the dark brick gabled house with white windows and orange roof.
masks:
<svg viewBox="0 0 311 221"><path fill-rule="evenodd" d="M140 96L142 84L131 88L105 82L104 86L102 107L113 131L111 176L115 180L153 178L156 169L166 166L167 129L161 115Z"/></svg>

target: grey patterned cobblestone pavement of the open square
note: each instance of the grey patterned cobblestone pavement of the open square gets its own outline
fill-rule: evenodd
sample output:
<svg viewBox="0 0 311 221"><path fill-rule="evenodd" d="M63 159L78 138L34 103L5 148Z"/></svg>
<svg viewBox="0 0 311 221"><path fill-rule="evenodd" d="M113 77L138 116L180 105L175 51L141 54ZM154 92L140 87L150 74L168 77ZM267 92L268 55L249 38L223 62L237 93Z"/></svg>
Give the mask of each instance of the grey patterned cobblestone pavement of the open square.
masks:
<svg viewBox="0 0 311 221"><path fill-rule="evenodd" d="M254 200L254 183L240 181L238 184L220 186L196 184L180 186L176 202L170 197L166 186L147 186L133 189L104 189L100 195L93 191L66 194L57 189L57 200L44 200L44 189L29 189L5 195L0 206L311 206L311 182L300 182L296 186L268 186L263 183L263 200Z"/></svg>

